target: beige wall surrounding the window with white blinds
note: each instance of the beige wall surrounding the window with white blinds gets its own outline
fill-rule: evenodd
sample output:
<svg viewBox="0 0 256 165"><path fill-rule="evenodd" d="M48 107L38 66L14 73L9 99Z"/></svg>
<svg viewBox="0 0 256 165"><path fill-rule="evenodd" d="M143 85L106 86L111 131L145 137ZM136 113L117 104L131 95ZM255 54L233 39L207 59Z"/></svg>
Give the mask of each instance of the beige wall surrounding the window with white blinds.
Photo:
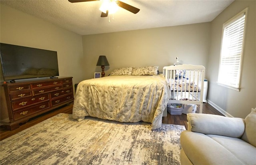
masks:
<svg viewBox="0 0 256 165"><path fill-rule="evenodd" d="M241 90L222 87L218 80L222 24L248 7ZM208 100L219 111L233 117L246 117L256 107L256 1L236 0L211 24L211 44L208 59Z"/></svg>

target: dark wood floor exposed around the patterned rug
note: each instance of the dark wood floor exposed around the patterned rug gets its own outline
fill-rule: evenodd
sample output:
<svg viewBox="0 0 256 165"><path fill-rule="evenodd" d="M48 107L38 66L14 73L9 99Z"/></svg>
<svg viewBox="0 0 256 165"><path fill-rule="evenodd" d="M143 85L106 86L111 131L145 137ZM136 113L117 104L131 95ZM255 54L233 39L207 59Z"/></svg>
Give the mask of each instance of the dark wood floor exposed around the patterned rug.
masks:
<svg viewBox="0 0 256 165"><path fill-rule="evenodd" d="M20 125L18 129L15 129L13 131L9 131L4 127L4 125L1 125L0 127L0 140L6 139L7 137L10 137L24 129L27 129L28 127L31 127L32 125L35 125L37 123L40 123L58 113L69 113L72 114L72 107L73 105L67 105L60 107L59 109L56 109L54 111L50 111L48 113L44 113L42 115L39 115L37 117L31 118L27 123L24 123L23 125ZM199 107L197 107L196 113L199 112ZM208 103L203 103L203 113L208 114L215 114L215 115L222 115L219 111L217 111L214 107L212 107ZM163 117L162 123L166 124L176 124L176 125L185 125L186 129L188 128L188 121L187 121L187 115L170 115L170 113L167 112L167 117Z"/></svg>

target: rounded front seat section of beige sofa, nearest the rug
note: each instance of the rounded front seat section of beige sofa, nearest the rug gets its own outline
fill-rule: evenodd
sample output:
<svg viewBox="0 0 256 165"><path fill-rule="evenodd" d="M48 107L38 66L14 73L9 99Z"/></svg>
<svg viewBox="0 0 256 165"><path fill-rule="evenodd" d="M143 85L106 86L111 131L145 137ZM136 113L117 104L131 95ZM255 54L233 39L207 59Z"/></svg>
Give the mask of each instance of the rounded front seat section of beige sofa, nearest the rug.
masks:
<svg viewBox="0 0 256 165"><path fill-rule="evenodd" d="M180 143L193 164L244 165L220 143L202 133L183 131L180 135Z"/></svg>

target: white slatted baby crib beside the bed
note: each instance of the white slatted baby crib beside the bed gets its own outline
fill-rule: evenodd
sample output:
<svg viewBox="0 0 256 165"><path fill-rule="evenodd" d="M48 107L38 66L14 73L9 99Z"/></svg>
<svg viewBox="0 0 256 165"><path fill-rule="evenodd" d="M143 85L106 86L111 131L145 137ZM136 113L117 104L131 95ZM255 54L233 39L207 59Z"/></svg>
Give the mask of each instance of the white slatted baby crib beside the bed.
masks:
<svg viewBox="0 0 256 165"><path fill-rule="evenodd" d="M202 113L204 72L204 66L165 66L163 74L171 91L170 103L200 105L199 113Z"/></svg>

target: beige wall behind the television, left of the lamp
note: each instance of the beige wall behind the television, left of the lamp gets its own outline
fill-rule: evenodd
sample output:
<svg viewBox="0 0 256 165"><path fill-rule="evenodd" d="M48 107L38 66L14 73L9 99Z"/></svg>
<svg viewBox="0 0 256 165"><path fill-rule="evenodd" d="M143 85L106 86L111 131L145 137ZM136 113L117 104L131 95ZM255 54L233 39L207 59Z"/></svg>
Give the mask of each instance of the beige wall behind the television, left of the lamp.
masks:
<svg viewBox="0 0 256 165"><path fill-rule="evenodd" d="M82 36L2 4L0 9L0 42L57 51L60 76L72 76L74 83L84 80ZM2 85L2 71L0 74ZM0 115L4 119L6 108L0 89Z"/></svg>

